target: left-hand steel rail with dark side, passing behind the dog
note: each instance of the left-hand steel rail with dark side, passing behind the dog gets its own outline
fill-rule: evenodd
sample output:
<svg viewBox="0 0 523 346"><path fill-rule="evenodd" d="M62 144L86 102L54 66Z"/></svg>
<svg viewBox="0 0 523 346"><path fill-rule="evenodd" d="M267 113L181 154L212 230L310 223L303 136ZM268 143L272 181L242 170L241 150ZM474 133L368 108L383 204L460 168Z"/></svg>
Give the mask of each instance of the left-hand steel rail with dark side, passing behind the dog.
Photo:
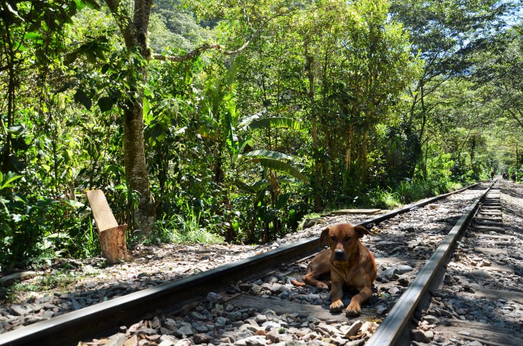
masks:
<svg viewBox="0 0 523 346"><path fill-rule="evenodd" d="M448 194L408 205L395 212L367 219L358 225L367 226L391 219L398 214L409 212L416 207L422 207L479 184L472 184ZM185 299L206 294L209 290L223 287L231 281L259 276L282 262L303 258L320 248L319 237L303 239L300 242L252 256L252 258L239 260L2 333L0 334L0 346L77 345L80 340L100 336L103 333L116 332L119 326L135 322L143 318L146 313L164 310L167 306L179 306Z"/></svg>

